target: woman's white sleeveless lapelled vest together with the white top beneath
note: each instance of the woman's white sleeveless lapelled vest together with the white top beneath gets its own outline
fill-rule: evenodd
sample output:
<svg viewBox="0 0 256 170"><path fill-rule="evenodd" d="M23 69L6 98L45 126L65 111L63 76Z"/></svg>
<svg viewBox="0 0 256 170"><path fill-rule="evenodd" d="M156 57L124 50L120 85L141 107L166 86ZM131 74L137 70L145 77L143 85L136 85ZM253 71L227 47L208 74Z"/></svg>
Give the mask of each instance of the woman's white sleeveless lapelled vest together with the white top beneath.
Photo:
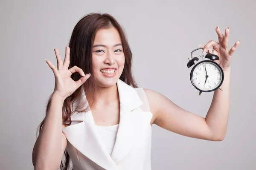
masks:
<svg viewBox="0 0 256 170"><path fill-rule="evenodd" d="M63 128L74 170L151 170L152 113L145 91L120 79L117 88L118 127L97 127L88 111L73 113L71 125Z"/></svg>

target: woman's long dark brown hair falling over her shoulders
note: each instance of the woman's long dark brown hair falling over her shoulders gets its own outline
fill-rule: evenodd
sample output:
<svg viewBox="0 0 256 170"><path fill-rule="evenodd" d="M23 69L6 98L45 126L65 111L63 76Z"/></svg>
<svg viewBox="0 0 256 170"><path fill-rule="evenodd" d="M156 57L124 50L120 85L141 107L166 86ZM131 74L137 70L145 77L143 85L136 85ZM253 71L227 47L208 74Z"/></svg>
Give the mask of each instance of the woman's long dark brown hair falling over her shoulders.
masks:
<svg viewBox="0 0 256 170"><path fill-rule="evenodd" d="M114 27L119 32L123 51L125 55L125 65L124 70L119 79L125 82L128 85L131 85L134 88L137 88L137 84L134 81L134 78L131 73L131 59L132 53L131 49L128 45L128 41L125 36L125 32L122 29L122 26L117 22L117 20L111 16L110 14L99 14L99 13L90 13L85 15L79 20L76 26L73 29L72 35L70 37L69 47L70 47L70 65L69 68L73 66L78 66L81 68L85 74L90 73L91 76L87 81L81 85L72 95L67 97L64 100L64 105L62 108L62 122L63 125L68 126L71 124L70 116L74 111L85 112L90 108L93 108L97 102L97 96L99 96L99 92L96 86L95 79L93 78L93 65L92 65L92 45L96 36L96 32L102 28L111 28ZM77 81L81 78L78 73L74 73L71 75L71 78L74 81ZM87 103L90 103L90 107L88 106L85 110L80 110L86 104L79 105L73 110L73 103L75 100L79 100L80 94L84 91L87 99ZM52 94L51 94L52 96ZM51 96L49 97L46 113L49 109L49 103L51 100ZM44 124L44 120L39 125L39 133L41 132L42 126ZM61 161L60 169L68 170L70 169L70 156L67 153L67 150L64 151L65 160Z"/></svg>

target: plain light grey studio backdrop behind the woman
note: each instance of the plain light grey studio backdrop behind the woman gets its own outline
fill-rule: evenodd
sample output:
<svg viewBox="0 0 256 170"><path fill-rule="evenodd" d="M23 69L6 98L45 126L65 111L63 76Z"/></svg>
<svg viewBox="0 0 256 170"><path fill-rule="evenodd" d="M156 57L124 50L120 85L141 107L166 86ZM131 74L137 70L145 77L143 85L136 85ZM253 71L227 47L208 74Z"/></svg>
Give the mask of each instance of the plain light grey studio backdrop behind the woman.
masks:
<svg viewBox="0 0 256 170"><path fill-rule="evenodd" d="M128 35L138 85L200 116L206 115L213 92L198 95L188 58L200 43L218 41L216 26L223 33L230 27L229 48L241 43L231 63L225 139L192 139L153 125L152 170L255 170L255 7L253 0L1 0L0 169L33 169L36 130L54 89L44 59L56 64L54 47L64 58L71 32L85 14L107 12Z"/></svg>

